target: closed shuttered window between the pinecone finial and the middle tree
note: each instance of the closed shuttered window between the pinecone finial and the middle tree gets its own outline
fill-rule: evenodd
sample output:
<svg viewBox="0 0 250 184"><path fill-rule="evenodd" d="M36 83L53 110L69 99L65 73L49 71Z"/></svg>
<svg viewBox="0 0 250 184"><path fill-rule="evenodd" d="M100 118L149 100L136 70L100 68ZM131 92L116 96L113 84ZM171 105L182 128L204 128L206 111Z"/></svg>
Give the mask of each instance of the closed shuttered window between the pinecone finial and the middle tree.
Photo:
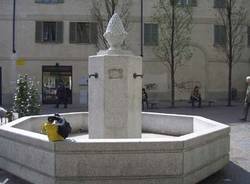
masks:
<svg viewBox="0 0 250 184"><path fill-rule="evenodd" d="M158 24L144 24L144 45L158 45Z"/></svg>

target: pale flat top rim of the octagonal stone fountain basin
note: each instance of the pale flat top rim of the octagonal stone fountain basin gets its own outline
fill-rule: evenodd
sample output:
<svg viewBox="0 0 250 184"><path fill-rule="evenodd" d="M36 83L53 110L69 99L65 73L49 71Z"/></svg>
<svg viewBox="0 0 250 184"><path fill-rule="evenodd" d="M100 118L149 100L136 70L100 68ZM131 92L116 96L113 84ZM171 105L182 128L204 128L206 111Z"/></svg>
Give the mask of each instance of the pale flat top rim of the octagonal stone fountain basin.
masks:
<svg viewBox="0 0 250 184"><path fill-rule="evenodd" d="M88 112L76 112L79 114L88 114ZM74 115L76 113L61 113L62 116L64 115ZM195 118L195 119L199 119L202 121L206 121L207 123L209 123L211 125L210 128L204 129L202 131L198 131L198 132L192 132L189 134L185 134L182 136L178 136L178 137L171 137L171 138L136 138L136 139L131 139L131 138L124 138L124 139L85 139L84 141L80 141L80 142L70 142L70 140L72 140L73 138L68 138L68 141L66 139L65 143L141 143L141 142L145 142L145 143L149 143L149 142L183 142L183 141L188 141L190 139L193 138L197 138L197 137L201 137L203 135L207 135L210 133L214 133L214 132L218 132L218 131L224 131L225 134L230 132L230 127L221 123L218 123L216 121L201 117L201 116L191 116L191 115L177 115L177 114L165 114L165 113L151 113L151 112L143 112L142 114L145 115L160 115L160 116L170 116L170 117L189 117L189 118ZM51 115L51 114L49 114ZM6 125L2 125L0 127L0 130L4 130L6 132L15 132L15 134L17 135L22 135L24 137L27 138L32 138L35 140L40 140L40 141L44 141L44 142L49 142L48 138L46 135L40 134L40 133L36 133L36 132L32 132L32 131L28 131L28 130L24 130L21 128L17 128L15 127L16 125L18 125L19 123L23 122L23 121L27 121L30 118L40 118L40 117L44 117L46 118L49 115L37 115L37 116L28 116L28 117L22 117L19 118L11 123L8 123ZM149 132L150 133L150 132ZM59 143L59 142L55 142L55 143ZM60 142L61 143L61 142Z"/></svg>

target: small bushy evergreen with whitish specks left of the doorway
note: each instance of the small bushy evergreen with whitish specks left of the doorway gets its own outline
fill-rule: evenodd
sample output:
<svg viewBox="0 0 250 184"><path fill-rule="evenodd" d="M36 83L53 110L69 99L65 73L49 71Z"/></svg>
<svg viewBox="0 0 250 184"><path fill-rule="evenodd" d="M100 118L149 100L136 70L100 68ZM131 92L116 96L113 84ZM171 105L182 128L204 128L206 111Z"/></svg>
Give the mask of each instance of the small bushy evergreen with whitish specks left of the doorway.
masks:
<svg viewBox="0 0 250 184"><path fill-rule="evenodd" d="M13 111L19 117L36 115L40 112L38 90L27 74L19 75L14 95Z"/></svg>

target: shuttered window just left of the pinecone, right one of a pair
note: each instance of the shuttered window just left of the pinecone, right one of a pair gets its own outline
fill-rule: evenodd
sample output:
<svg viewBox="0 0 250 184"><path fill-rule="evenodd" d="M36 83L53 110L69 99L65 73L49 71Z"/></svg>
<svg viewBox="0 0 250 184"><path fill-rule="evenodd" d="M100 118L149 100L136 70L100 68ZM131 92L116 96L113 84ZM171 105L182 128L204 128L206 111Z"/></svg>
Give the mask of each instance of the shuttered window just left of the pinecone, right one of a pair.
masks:
<svg viewBox="0 0 250 184"><path fill-rule="evenodd" d="M70 43L97 43L97 24L90 22L70 23Z"/></svg>

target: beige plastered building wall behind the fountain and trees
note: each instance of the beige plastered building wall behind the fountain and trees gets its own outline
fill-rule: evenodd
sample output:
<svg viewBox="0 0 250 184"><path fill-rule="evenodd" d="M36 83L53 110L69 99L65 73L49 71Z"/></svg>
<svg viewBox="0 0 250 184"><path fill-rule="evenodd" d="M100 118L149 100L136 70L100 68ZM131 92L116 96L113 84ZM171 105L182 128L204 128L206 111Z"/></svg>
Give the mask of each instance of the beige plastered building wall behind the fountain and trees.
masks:
<svg viewBox="0 0 250 184"><path fill-rule="evenodd" d="M19 57L26 60L17 71L29 73L41 81L42 65L73 66L73 103L79 103L79 80L87 76L89 55L97 52L95 45L69 44L69 22L93 21L91 0L65 0L63 4L36 4L34 0L17 0L16 12L16 50ZM140 1L131 0L128 47L135 55L140 55ZM156 0L144 0L144 20L152 22L153 5ZM199 0L194 8L194 26L192 31L193 57L183 61L185 65L176 73L177 83L196 81L201 83L203 98L216 94L222 97L227 91L227 66L223 63L222 52L213 45L214 24L217 23L213 1ZM250 7L250 2L244 2ZM63 21L63 44L35 43L35 21ZM247 22L250 22L249 20ZM0 66L3 75L3 100L8 103L10 96L10 56L12 52L12 1L0 1ZM247 39L246 39L247 42ZM239 64L234 66L233 87L244 91L245 76L249 75L249 48L246 47ZM143 84L156 83L158 88L152 91L153 97L169 98L170 74L167 68L155 57L153 47L144 47ZM150 92L151 93L151 92ZM190 89L176 90L177 99L189 98ZM216 96L215 95L215 96ZM6 98L5 98L6 96Z"/></svg>

